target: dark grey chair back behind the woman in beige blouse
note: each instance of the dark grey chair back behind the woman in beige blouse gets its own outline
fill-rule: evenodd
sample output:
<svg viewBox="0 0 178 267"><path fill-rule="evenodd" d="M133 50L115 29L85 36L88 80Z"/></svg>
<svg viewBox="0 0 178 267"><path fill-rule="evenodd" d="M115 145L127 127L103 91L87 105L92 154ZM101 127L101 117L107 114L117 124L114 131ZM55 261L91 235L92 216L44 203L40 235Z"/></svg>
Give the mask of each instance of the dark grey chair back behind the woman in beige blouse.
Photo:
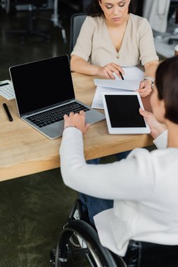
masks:
<svg viewBox="0 0 178 267"><path fill-rule="evenodd" d="M72 52L80 29L87 15L85 13L75 13L70 17L70 53Z"/></svg>

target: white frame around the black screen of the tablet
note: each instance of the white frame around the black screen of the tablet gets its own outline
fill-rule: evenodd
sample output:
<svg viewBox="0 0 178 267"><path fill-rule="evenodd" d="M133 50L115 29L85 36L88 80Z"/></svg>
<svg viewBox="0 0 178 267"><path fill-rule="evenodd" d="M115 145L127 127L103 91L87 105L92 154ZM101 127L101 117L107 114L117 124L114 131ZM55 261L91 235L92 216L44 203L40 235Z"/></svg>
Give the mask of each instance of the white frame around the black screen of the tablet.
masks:
<svg viewBox="0 0 178 267"><path fill-rule="evenodd" d="M146 123L146 120L144 119L144 122L146 124L146 127L112 127L110 124L110 117L108 114L108 107L106 105L106 98L105 96L109 95L109 96L115 96L115 95L134 95L137 96L138 100L139 100L139 105L140 107L144 110L144 105L141 101L141 97L139 95L138 92L128 92L128 91L118 91L118 92L113 92L113 93L108 93L108 92L103 92L102 93L102 99L103 99L103 106L104 106L104 111L105 111L105 115L106 115L106 123L108 126L108 132L110 134L136 134L136 133L150 133L150 127L148 126L148 124Z"/></svg>

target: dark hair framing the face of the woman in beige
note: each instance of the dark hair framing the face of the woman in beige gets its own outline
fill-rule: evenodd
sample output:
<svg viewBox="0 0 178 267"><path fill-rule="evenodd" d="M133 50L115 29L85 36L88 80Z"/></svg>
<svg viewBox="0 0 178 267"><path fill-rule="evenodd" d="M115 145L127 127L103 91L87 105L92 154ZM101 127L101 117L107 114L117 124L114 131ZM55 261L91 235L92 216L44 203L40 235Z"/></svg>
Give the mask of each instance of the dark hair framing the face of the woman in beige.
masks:
<svg viewBox="0 0 178 267"><path fill-rule="evenodd" d="M134 5L134 0L131 0L129 3L129 13L135 13L136 6ZM89 6L87 6L85 13L91 17L97 17L103 15L101 6L98 4L98 0L91 0Z"/></svg>

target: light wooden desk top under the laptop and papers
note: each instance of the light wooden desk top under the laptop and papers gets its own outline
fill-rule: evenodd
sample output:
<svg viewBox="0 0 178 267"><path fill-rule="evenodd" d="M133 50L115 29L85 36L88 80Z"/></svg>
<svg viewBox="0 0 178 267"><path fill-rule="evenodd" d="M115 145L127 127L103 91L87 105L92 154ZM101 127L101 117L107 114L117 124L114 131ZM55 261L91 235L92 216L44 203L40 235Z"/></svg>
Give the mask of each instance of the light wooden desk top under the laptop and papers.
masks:
<svg viewBox="0 0 178 267"><path fill-rule="evenodd" d="M76 98L91 105L96 87L93 79L72 73ZM2 107L7 103L13 122L9 122ZM15 100L0 97L0 181L60 167L58 149L61 138L50 140L18 117ZM106 120L90 126L84 135L86 159L112 155L137 147L152 145L149 135L110 135Z"/></svg>

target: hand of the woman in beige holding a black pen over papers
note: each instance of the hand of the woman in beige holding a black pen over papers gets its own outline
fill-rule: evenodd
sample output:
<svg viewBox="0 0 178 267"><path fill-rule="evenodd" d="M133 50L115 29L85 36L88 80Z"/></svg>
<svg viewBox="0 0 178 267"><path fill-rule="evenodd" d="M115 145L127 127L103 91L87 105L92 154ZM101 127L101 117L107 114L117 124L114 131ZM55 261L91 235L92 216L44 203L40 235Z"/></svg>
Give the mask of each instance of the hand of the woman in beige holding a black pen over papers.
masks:
<svg viewBox="0 0 178 267"><path fill-rule="evenodd" d="M120 72L122 74L125 74L124 70L122 69L122 67L120 67L119 65L115 64L115 63L109 63L103 67L98 67L98 75L103 77L103 78L107 78L107 79L115 79L115 75L113 74L113 72L115 72L115 74L122 79Z"/></svg>

